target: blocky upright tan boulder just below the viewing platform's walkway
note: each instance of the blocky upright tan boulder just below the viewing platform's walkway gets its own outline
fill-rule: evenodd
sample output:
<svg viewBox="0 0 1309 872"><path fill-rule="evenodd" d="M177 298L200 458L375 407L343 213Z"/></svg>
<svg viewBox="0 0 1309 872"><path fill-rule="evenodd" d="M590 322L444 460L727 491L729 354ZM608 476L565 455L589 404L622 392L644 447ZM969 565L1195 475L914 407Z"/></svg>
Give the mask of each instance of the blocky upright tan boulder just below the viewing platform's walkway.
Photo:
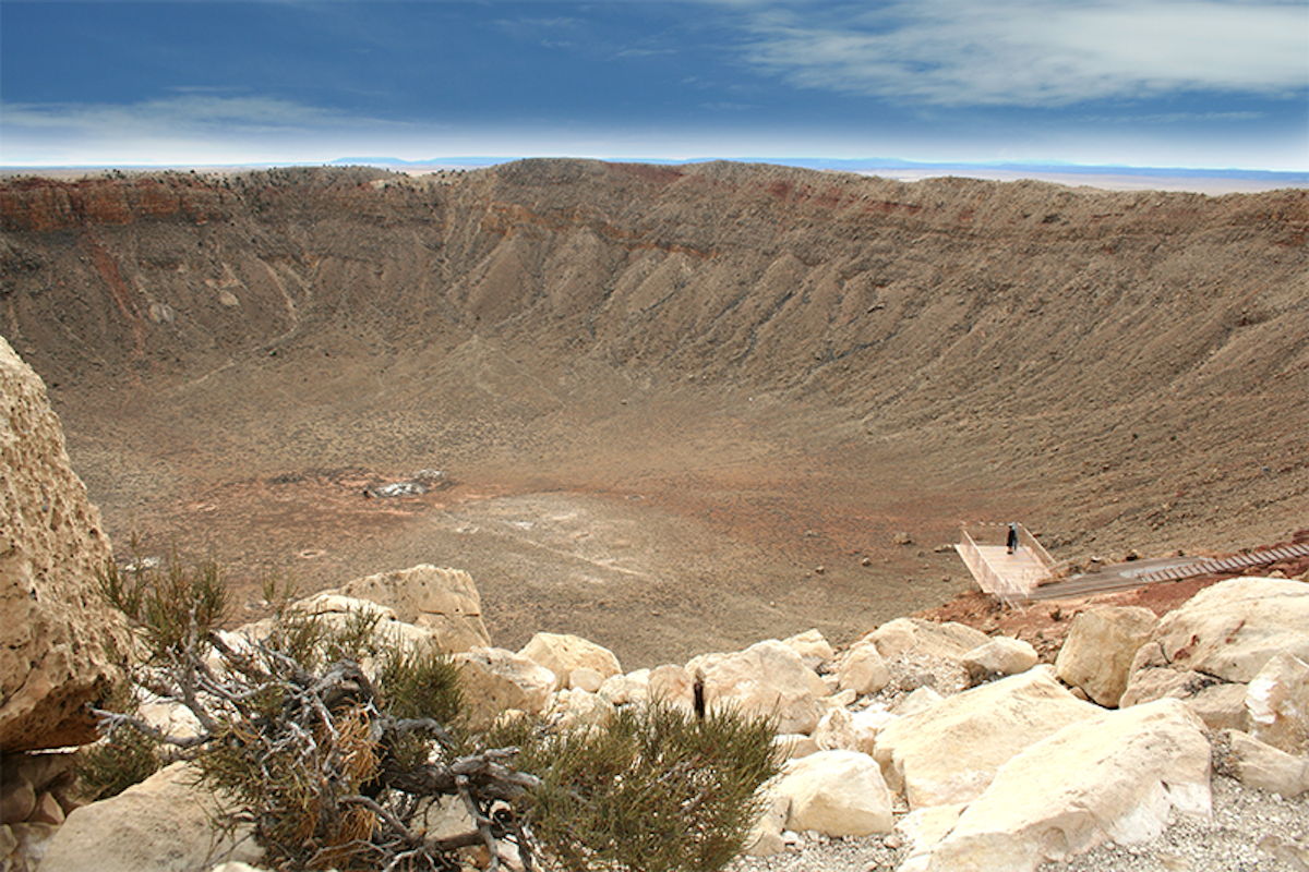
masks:
<svg viewBox="0 0 1309 872"><path fill-rule="evenodd" d="M1114 709L1127 689L1136 651L1157 625L1158 618L1148 608L1093 605L1073 617L1055 671L1066 684Z"/></svg>

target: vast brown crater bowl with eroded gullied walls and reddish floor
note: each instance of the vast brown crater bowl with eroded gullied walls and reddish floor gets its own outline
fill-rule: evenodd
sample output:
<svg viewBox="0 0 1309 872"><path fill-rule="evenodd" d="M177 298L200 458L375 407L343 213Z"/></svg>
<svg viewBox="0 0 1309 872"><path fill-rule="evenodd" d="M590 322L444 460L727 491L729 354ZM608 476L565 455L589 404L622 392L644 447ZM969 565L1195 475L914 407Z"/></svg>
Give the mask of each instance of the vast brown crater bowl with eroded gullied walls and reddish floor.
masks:
<svg viewBox="0 0 1309 872"><path fill-rule="evenodd" d="M212 549L251 609L270 567L435 562L496 645L636 667L935 605L962 519L1080 560L1309 518L1304 190L524 161L0 199L0 333L118 553Z"/></svg>

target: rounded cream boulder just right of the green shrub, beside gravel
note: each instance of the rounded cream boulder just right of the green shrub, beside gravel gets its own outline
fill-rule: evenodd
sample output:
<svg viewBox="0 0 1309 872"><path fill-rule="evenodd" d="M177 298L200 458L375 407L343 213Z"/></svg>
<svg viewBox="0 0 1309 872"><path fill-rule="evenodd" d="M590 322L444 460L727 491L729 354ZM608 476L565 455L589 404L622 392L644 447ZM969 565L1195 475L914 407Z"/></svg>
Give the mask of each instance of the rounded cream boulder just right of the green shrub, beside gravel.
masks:
<svg viewBox="0 0 1309 872"><path fill-rule="evenodd" d="M830 837L889 833L891 795L868 754L821 750L792 760L771 792L791 800L787 829Z"/></svg>

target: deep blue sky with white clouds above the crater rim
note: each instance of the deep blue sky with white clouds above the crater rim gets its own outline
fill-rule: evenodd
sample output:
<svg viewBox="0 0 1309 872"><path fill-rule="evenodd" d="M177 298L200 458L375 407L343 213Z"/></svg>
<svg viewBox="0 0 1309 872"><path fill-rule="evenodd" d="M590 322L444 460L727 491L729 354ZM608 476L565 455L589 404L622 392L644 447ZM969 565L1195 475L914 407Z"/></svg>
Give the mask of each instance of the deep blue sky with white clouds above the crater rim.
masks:
<svg viewBox="0 0 1309 872"><path fill-rule="evenodd" d="M0 165L1309 169L1309 3L0 4Z"/></svg>

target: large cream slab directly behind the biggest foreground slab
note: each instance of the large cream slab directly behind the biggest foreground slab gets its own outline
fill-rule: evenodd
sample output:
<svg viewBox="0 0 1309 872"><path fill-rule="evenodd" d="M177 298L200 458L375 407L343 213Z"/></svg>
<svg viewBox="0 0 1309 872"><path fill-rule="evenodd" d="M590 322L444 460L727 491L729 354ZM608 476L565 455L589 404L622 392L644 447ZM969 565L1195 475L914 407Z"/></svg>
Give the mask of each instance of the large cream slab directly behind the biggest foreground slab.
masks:
<svg viewBox="0 0 1309 872"><path fill-rule="evenodd" d="M911 809L963 803L979 796L1016 754L1100 711L1068 693L1049 667L1037 667L888 724L873 756Z"/></svg>

